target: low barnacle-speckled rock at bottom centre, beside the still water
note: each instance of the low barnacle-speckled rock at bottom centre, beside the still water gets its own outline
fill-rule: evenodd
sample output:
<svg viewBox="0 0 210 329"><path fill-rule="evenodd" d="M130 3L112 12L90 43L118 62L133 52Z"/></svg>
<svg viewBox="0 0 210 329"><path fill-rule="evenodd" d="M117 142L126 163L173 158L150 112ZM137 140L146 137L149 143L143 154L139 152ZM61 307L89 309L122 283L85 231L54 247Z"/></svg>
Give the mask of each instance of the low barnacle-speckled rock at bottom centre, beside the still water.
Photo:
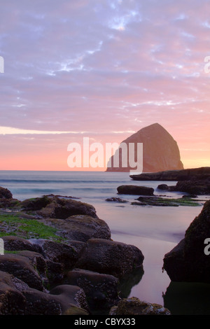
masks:
<svg viewBox="0 0 210 329"><path fill-rule="evenodd" d="M160 304L142 302L137 297L130 297L120 300L118 306L111 308L109 315L171 315L171 312Z"/></svg>

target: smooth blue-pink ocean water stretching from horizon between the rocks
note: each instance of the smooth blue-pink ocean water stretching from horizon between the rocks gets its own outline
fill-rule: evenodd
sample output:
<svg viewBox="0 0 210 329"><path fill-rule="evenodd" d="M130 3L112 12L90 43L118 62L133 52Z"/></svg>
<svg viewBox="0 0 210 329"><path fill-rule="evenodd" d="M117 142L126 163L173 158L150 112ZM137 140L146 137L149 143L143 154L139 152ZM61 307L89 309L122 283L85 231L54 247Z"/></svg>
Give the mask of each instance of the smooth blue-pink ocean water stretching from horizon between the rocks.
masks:
<svg viewBox="0 0 210 329"><path fill-rule="evenodd" d="M175 185L176 182L161 182ZM132 184L155 189L155 195L181 197L184 193L158 190L158 181L132 181L129 173L112 172L21 172L0 171L0 186L8 188L13 197L54 194L78 197L92 204L97 215L109 225L115 241L133 244L144 254L144 274L130 276L122 285L123 297L139 297L147 302L162 304L172 314L210 314L210 285L173 283L162 272L165 253L184 237L186 229L199 207L139 207L131 204L137 196L118 195L120 185ZM106 198L121 197L127 203L106 202ZM209 195L200 200L209 200ZM203 202L204 203L204 202ZM210 256L209 256L210 257Z"/></svg>

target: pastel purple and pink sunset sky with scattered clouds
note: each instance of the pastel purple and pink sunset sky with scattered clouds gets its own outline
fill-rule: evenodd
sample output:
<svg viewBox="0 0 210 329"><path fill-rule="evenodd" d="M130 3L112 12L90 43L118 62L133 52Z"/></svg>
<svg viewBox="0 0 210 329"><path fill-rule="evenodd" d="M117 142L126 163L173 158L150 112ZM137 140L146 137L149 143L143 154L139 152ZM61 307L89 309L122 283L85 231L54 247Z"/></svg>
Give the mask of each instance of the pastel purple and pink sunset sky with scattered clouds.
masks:
<svg viewBox="0 0 210 329"><path fill-rule="evenodd" d="M185 168L209 166L209 10L209 0L3 1L0 170L72 170L69 144L120 144L153 123Z"/></svg>

